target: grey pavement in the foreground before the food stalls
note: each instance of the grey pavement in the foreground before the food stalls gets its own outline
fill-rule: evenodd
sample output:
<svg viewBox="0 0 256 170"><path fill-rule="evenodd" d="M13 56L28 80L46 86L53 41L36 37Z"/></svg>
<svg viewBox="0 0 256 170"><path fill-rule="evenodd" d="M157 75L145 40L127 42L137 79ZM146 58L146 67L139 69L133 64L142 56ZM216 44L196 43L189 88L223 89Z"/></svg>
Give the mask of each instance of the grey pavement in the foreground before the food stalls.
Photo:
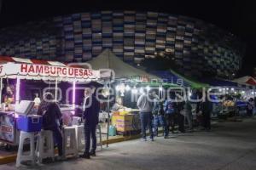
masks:
<svg viewBox="0 0 256 170"><path fill-rule="evenodd" d="M221 122L214 125L212 132L175 134L169 139L158 137L154 142L134 139L110 144L90 160L69 159L20 169L255 170L255 129L256 119ZM0 169L16 168L11 163Z"/></svg>

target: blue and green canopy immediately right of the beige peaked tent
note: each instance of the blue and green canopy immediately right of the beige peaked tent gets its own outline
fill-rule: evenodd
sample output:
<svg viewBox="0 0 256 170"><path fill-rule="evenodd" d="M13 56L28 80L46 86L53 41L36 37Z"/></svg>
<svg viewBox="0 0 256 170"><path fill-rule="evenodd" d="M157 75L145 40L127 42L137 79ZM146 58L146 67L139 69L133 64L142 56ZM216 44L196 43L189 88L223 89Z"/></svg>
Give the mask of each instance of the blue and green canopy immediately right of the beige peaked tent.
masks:
<svg viewBox="0 0 256 170"><path fill-rule="evenodd" d="M183 77L176 71L150 71L150 73L161 77L163 82L177 84L178 86L191 87L191 88L204 88L209 87L206 83L197 82L188 77Z"/></svg>

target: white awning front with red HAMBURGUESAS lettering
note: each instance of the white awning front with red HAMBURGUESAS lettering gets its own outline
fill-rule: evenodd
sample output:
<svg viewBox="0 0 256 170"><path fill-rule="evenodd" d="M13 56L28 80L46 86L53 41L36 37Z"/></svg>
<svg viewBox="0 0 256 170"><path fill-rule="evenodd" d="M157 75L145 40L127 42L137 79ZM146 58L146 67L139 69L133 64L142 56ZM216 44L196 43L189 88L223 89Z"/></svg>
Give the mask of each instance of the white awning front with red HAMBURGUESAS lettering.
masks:
<svg viewBox="0 0 256 170"><path fill-rule="evenodd" d="M35 64L14 64L1 65L0 76L20 75L20 76L41 76L41 77L70 77L70 78L90 78L100 77L99 71L91 69L65 67L55 65L35 65Z"/></svg>

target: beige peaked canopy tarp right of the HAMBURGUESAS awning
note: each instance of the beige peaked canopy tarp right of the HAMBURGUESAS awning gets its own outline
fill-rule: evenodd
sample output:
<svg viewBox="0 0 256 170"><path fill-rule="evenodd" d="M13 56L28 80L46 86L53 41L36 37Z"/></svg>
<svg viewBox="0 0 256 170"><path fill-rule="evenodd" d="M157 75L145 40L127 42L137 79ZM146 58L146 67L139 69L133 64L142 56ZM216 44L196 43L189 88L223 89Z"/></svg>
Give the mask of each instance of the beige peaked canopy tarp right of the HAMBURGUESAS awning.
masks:
<svg viewBox="0 0 256 170"><path fill-rule="evenodd" d="M109 49L105 49L102 54L89 60L87 63L89 63L91 68L94 70L112 70L116 78L126 78L131 80L132 77L141 77L142 79L148 78L150 80L160 80L160 77L154 76L149 74L147 71L143 71L125 63L122 59L114 55Z"/></svg>

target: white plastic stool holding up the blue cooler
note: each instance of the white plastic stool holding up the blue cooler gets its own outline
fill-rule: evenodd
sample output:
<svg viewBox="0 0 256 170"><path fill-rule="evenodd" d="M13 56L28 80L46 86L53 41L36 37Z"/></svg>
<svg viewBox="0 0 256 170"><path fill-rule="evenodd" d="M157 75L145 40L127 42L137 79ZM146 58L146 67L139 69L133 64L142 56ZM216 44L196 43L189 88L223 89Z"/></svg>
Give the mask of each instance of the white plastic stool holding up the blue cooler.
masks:
<svg viewBox="0 0 256 170"><path fill-rule="evenodd" d="M20 144L19 144L19 150L18 155L16 159L16 167L20 167L21 161L32 161L32 166L35 165L35 135L34 133L27 133L27 132L20 132ZM25 140L30 140L30 155L26 156L23 154L23 146L25 143Z"/></svg>

